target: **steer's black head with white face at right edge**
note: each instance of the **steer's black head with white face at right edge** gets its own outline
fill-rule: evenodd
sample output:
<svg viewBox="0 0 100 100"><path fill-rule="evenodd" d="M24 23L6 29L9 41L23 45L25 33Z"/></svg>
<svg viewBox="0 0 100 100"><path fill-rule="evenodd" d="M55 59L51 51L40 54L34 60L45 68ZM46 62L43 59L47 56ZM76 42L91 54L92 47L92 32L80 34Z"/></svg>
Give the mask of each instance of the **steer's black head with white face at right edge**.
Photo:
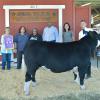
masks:
<svg viewBox="0 0 100 100"><path fill-rule="evenodd" d="M100 46L100 34L98 34L96 31L89 31L88 35L94 42L96 41L97 47Z"/></svg>

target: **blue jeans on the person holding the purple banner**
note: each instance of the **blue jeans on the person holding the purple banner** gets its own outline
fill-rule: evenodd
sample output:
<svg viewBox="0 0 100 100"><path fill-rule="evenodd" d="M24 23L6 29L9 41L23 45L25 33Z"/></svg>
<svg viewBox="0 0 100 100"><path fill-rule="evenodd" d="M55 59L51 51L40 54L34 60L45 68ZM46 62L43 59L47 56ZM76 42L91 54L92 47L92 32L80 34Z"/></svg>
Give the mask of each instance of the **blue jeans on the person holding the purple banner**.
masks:
<svg viewBox="0 0 100 100"><path fill-rule="evenodd" d="M5 69L7 63L7 69L10 70L11 67L11 54L10 53L2 53L2 69Z"/></svg>

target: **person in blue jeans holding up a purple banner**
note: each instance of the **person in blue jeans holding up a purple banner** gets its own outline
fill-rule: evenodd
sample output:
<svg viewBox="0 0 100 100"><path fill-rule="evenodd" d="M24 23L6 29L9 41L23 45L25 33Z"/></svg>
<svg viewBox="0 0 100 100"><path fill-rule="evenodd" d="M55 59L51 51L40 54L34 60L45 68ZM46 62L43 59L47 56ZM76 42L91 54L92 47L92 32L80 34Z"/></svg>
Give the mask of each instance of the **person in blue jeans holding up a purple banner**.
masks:
<svg viewBox="0 0 100 100"><path fill-rule="evenodd" d="M2 70L11 68L11 54L13 49L13 36L10 34L10 28L5 28L5 33L1 36L1 54L2 54Z"/></svg>

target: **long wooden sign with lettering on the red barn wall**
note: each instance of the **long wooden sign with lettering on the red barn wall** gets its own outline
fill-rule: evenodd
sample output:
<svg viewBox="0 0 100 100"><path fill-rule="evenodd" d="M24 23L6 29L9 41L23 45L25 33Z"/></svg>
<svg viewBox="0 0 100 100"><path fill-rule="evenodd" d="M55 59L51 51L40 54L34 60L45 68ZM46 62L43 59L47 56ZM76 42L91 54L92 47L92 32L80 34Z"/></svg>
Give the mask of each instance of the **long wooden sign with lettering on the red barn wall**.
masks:
<svg viewBox="0 0 100 100"><path fill-rule="evenodd" d="M10 19L14 23L57 22L57 10L10 11Z"/></svg>

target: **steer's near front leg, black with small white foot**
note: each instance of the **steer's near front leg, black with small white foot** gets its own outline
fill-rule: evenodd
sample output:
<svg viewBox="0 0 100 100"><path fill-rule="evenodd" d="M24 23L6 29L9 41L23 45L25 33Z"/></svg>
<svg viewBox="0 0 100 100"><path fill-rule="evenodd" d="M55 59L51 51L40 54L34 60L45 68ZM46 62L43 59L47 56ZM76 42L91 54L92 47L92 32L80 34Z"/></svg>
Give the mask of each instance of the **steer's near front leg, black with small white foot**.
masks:
<svg viewBox="0 0 100 100"><path fill-rule="evenodd" d="M84 78L85 78L85 73L86 73L85 68L79 67L78 71L79 71L79 78L80 78L80 88L85 89L85 85L84 85Z"/></svg>

